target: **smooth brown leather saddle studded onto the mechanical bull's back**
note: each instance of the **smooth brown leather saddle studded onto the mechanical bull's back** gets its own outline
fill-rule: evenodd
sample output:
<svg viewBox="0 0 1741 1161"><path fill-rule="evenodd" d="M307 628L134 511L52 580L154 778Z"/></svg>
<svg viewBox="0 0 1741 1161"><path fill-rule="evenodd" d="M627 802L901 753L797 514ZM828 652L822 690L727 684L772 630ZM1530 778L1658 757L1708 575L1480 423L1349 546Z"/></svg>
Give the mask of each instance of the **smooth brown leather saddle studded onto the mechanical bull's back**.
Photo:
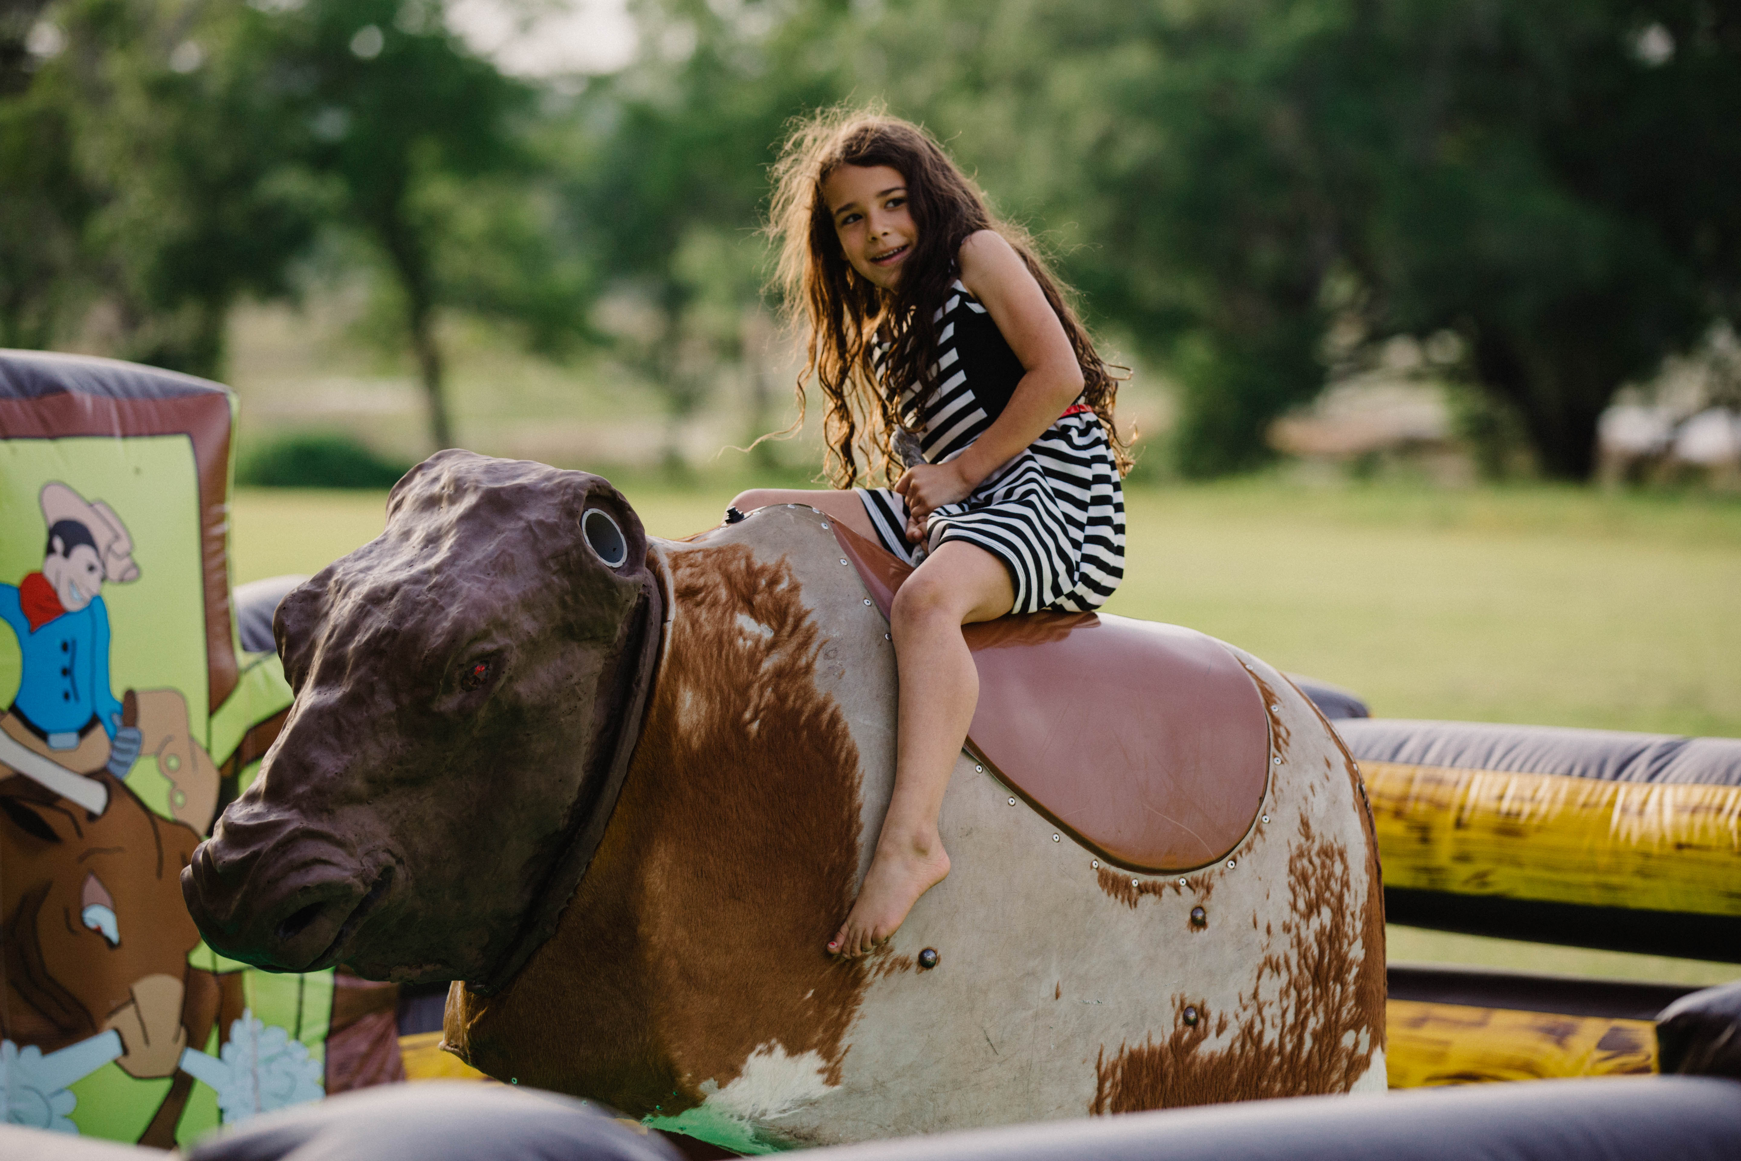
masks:
<svg viewBox="0 0 1741 1161"><path fill-rule="evenodd" d="M888 616L912 573L830 520ZM1269 785L1269 715L1213 637L1100 613L965 628L980 700L968 748L1029 806L1130 870L1205 867L1252 829Z"/></svg>

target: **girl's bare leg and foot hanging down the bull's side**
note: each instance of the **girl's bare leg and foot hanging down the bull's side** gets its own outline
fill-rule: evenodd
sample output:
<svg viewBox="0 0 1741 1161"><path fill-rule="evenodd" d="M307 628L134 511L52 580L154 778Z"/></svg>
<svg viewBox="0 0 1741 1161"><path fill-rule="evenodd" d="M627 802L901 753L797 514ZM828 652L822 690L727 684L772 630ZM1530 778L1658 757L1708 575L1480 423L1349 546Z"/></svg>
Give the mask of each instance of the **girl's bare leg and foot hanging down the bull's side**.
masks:
<svg viewBox="0 0 1741 1161"><path fill-rule="evenodd" d="M978 705L978 670L961 627L1003 616L1012 604L1015 588L1003 562L961 541L926 557L895 594L895 794L864 888L830 952L864 956L895 935L919 896L949 874L937 815Z"/></svg>

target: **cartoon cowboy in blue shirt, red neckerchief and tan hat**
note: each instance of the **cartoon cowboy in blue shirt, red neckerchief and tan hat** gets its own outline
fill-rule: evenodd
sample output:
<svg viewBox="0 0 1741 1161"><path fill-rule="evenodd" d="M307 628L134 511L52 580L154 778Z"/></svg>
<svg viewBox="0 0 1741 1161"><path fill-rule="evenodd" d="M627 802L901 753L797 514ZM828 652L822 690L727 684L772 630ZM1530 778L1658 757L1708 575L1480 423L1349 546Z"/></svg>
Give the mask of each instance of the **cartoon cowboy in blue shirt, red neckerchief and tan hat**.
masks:
<svg viewBox="0 0 1741 1161"><path fill-rule="evenodd" d="M124 707L110 688L110 621L103 585L139 580L127 527L101 500L85 501L66 484L42 487L49 527L42 571L19 585L0 583L0 620L17 634L23 681L0 717L0 762L42 780L40 762L89 775L108 768L125 778L139 755L141 731L124 724ZM50 789L68 794L68 785ZM75 787L77 789L77 787Z"/></svg>

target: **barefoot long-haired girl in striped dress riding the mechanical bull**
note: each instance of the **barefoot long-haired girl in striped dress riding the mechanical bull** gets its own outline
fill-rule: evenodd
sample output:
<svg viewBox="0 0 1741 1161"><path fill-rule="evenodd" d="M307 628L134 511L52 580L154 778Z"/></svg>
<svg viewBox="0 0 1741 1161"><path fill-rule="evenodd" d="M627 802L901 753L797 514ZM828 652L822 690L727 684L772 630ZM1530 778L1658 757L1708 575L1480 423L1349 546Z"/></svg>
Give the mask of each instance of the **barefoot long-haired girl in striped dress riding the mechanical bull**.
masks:
<svg viewBox="0 0 1741 1161"><path fill-rule="evenodd" d="M923 129L876 113L803 124L775 169L771 233L808 324L836 487L865 447L890 465L897 426L924 463L893 487L740 494L749 512L804 503L918 571L895 595L895 790L858 900L829 952L864 956L949 874L937 830L978 701L961 627L1100 606L1125 569L1130 460L1116 381L1018 230ZM923 548L924 552L916 552Z"/></svg>

